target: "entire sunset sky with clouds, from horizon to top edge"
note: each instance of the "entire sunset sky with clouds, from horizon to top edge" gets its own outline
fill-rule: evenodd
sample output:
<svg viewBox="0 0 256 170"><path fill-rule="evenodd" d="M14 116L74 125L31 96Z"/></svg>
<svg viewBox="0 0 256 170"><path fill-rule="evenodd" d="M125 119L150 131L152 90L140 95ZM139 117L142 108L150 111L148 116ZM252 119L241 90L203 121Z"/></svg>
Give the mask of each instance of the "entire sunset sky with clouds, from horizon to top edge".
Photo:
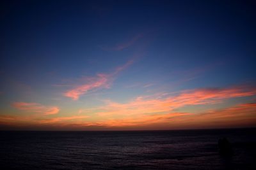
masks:
<svg viewBox="0 0 256 170"><path fill-rule="evenodd" d="M256 127L255 1L0 6L0 130Z"/></svg>

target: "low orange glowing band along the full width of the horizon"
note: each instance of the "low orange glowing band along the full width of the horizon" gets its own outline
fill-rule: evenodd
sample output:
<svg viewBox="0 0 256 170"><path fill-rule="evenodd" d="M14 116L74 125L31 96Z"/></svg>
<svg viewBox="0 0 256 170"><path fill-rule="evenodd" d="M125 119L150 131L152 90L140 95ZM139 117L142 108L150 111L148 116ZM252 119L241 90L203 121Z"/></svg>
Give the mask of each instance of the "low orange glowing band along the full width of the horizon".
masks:
<svg viewBox="0 0 256 170"><path fill-rule="evenodd" d="M156 113L142 114L125 118L106 118L102 121L90 122L87 116L32 118L0 115L0 125L9 127L36 126L40 129L195 129L218 127L255 127L256 103L239 104L221 110L210 110L204 113Z"/></svg>

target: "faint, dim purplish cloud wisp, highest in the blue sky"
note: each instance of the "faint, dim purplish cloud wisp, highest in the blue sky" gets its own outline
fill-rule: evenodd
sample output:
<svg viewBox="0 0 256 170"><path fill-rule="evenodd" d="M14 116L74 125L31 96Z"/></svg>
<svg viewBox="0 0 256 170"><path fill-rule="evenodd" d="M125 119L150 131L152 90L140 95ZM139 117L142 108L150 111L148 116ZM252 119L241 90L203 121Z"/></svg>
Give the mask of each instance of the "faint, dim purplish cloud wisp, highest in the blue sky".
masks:
<svg viewBox="0 0 256 170"><path fill-rule="evenodd" d="M129 46L132 46L134 43L136 43L136 41L138 41L138 39L142 38L143 34L138 34L134 37L132 37L131 39L129 39L129 41L125 41L124 43L120 43L118 45L115 45L113 47L108 47L108 46L102 46L102 50L111 50L111 51L121 51L124 50L125 48L128 48Z"/></svg>

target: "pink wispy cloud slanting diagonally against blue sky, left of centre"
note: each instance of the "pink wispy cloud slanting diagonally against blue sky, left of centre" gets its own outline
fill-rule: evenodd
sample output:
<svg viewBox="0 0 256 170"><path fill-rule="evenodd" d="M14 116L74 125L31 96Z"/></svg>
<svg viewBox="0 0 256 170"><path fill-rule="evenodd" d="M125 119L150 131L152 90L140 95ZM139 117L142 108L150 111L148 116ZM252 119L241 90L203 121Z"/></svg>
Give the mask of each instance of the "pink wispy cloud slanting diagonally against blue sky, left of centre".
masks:
<svg viewBox="0 0 256 170"><path fill-rule="evenodd" d="M76 85L73 89L68 90L63 94L63 96L70 97L73 100L79 99L79 97L83 94L86 94L89 90L97 90L97 89L108 89L113 80L115 79L115 76L120 73L120 71L123 71L127 67L129 67L134 60L129 60L126 62L123 66L116 67L115 71L113 73L100 73L97 74L95 77L87 78L87 82L83 83L82 85Z"/></svg>

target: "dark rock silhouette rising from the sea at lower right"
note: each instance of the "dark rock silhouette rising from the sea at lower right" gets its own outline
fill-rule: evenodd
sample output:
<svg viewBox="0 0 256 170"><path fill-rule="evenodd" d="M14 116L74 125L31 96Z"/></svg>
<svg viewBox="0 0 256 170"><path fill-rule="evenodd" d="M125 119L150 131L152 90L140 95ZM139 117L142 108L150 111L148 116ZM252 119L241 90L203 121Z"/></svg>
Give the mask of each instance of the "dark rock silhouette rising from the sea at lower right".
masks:
<svg viewBox="0 0 256 170"><path fill-rule="evenodd" d="M233 155L233 149L231 146L231 143L228 141L227 138L221 138L218 141L219 146L219 153L222 156L232 156Z"/></svg>

